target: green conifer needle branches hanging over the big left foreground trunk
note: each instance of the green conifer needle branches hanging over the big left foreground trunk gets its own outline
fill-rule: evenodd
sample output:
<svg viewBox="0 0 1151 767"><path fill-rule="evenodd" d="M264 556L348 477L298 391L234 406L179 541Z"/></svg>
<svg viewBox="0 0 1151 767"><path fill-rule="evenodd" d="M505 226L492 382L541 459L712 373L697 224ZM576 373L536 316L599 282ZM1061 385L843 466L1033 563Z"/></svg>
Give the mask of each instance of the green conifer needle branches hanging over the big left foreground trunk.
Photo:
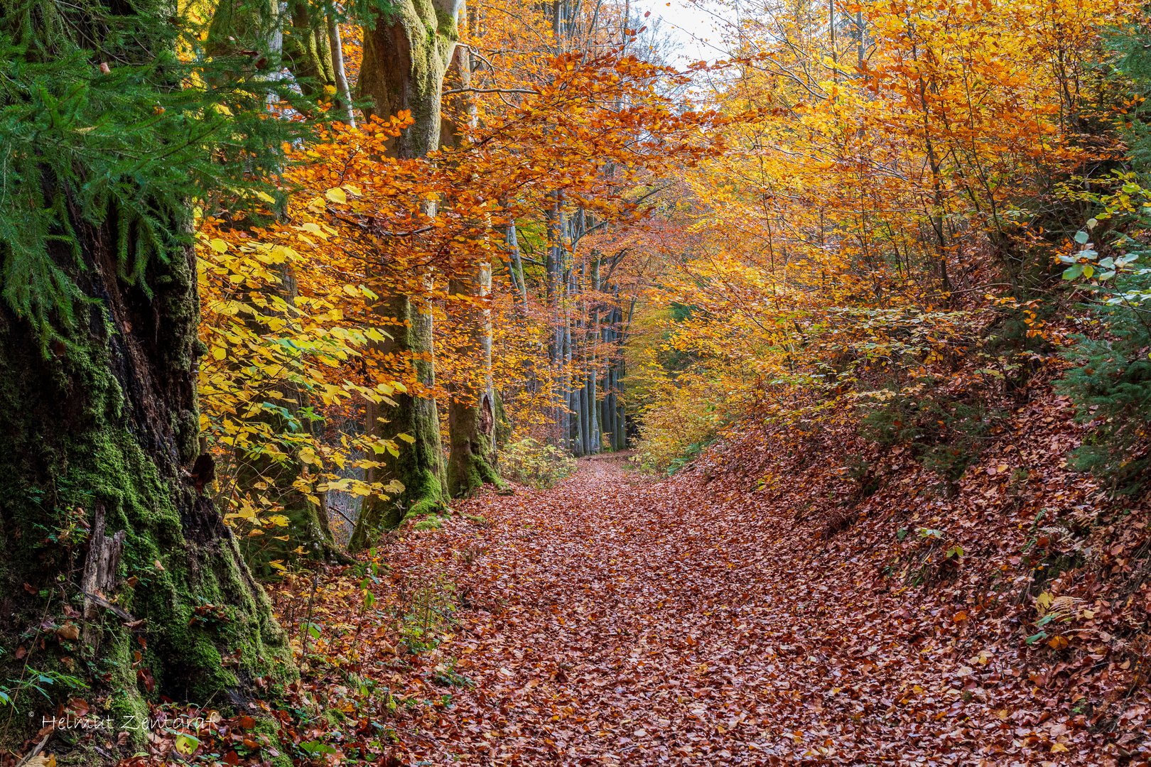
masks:
<svg viewBox="0 0 1151 767"><path fill-rule="evenodd" d="M83 228L107 228L120 277L191 241L191 206L244 200L306 110L279 59L207 56L162 0L0 0L0 294L43 346L84 299ZM86 258L85 258L86 255Z"/></svg>

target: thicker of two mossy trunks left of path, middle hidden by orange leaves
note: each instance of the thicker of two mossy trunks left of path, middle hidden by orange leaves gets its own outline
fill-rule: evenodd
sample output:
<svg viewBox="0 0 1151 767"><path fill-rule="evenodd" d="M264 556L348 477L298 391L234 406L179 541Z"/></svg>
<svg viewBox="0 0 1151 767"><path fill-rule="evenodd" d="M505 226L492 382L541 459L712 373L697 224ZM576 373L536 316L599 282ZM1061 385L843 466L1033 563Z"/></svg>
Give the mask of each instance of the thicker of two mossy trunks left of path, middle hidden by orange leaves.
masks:
<svg viewBox="0 0 1151 767"><path fill-rule="evenodd" d="M457 0L401 0L364 30L359 87L371 101L365 112L389 117L407 110L413 120L390 143L388 151L395 156L421 158L439 148L443 78L456 47L460 5ZM424 281L430 281L430 275L424 275ZM391 275L391 282L404 279ZM352 551L369 546L381 528L395 527L405 514L434 511L447 499L440 415L435 399L427 396L435 384L430 307L397 293L381 299L379 310L398 320L391 330L394 338L384 346L411 360L422 391L396 397L397 406L386 413L368 407L369 434L394 440L405 435L412 442L401 444L401 454L387 467L372 471L371 480L396 480L404 490L395 499L365 499L349 542Z"/></svg>

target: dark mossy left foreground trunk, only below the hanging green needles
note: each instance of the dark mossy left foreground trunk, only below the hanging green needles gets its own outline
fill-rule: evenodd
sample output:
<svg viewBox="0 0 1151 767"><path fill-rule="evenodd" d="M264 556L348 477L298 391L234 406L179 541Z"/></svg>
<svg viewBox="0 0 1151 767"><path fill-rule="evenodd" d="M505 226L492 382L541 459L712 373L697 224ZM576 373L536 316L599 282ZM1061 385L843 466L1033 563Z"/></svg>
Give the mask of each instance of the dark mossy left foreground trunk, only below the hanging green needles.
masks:
<svg viewBox="0 0 1151 767"><path fill-rule="evenodd" d="M89 301L82 315L45 353L29 323L0 308L0 646L10 651L0 677L76 675L114 719L160 696L244 705L267 696L261 681L295 672L264 590L199 489L208 466L193 254L175 247L129 284L117 221L69 223L83 259L64 247L53 256ZM98 608L77 639L66 627L83 622L69 615L84 601L85 529L98 507L109 538L124 532L101 596L131 620ZM25 697L18 706L44 703Z"/></svg>

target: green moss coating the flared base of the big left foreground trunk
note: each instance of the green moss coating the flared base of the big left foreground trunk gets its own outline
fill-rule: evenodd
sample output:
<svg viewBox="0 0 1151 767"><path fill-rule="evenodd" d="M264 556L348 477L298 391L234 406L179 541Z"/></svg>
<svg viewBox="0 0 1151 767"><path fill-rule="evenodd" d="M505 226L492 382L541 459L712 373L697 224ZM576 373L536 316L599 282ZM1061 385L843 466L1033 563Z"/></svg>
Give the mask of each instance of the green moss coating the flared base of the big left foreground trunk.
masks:
<svg viewBox="0 0 1151 767"><path fill-rule="evenodd" d="M91 310L94 320L104 316L99 307ZM143 624L129 629L110 613L101 615L97 651L87 658L87 670L77 672L92 688L90 700L106 698L108 715L125 721L145 716L147 700L161 695L221 705L257 676L280 683L294 678L266 595L247 574L219 514L180 476L186 457L195 454L195 402L157 421L142 417L147 411L139 402L148 400L139 398L146 391L114 355L113 344L120 342L90 336L93 327L101 323L82 323L70 332L66 353L44 359L28 329L0 312L0 430L8 438L0 452L6 498L0 591L15 595L10 620L0 626L0 645L26 643L18 636L38 626L45 611L51 616L60 609L54 595L61 584L78 599L78 576L58 581L83 565L83 537L68 526L78 514L91 527L99 504L107 531L125 532L119 584L108 597ZM125 394L132 386L135 404ZM145 452L145 445L154 452ZM226 606L228 620L193 621L205 604ZM33 646L30 658L47 668L64 652L49 642ZM226 661L221 652L235 660ZM13 662L0 658L0 676L18 675ZM151 674L152 689L137 678L137 669ZM22 735L13 728L0 739Z"/></svg>

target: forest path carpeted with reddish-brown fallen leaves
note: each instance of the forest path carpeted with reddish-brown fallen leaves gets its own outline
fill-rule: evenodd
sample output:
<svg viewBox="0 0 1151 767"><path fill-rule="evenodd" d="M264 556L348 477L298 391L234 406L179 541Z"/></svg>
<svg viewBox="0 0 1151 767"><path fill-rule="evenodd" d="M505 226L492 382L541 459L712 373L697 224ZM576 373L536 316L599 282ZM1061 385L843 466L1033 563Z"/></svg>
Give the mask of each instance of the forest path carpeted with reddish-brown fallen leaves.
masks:
<svg viewBox="0 0 1151 767"><path fill-rule="evenodd" d="M1076 756L1055 741L1073 714L1052 716L993 653L970 658L990 645L943 591L877 588L867 550L829 553L740 482L584 460L554 490L473 499L471 520L401 542L390 561L457 584L465 609L443 652L474 683L399 733L414 764Z"/></svg>

